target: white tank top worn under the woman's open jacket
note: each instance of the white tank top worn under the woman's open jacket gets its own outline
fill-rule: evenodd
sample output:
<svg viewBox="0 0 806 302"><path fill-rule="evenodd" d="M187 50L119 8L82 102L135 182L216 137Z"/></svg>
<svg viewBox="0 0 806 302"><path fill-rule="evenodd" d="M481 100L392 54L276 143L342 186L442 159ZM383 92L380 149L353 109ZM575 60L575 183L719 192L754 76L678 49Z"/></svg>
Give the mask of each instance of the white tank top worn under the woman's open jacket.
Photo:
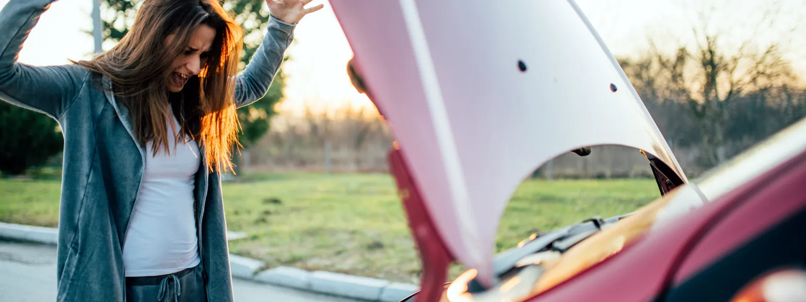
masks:
<svg viewBox="0 0 806 302"><path fill-rule="evenodd" d="M171 116L178 131L179 122ZM195 141L177 145L174 138L168 125L170 155L162 148L155 156L153 143L146 145L143 186L123 242L127 277L172 274L201 261L193 213L193 180L201 157Z"/></svg>

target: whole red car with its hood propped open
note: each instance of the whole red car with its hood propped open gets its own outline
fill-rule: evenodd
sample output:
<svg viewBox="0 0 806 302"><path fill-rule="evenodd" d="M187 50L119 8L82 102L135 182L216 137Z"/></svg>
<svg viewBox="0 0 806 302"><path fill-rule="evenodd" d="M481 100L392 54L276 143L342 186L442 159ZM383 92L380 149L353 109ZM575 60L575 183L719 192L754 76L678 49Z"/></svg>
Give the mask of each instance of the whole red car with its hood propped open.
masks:
<svg viewBox="0 0 806 302"><path fill-rule="evenodd" d="M806 120L691 182L571 0L330 3L397 139L419 302L806 300ZM662 197L494 254L521 181L598 145L641 150Z"/></svg>

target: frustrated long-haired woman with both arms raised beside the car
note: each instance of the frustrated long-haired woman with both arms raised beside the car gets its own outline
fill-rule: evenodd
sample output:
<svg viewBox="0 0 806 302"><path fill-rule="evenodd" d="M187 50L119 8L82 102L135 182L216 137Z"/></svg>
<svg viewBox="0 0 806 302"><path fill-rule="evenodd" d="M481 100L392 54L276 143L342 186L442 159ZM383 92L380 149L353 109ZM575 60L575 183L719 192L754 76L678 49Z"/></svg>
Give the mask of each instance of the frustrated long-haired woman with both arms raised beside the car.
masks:
<svg viewBox="0 0 806 302"><path fill-rule="evenodd" d="M58 300L233 300L220 173L235 109L266 93L295 25L322 5L267 0L268 31L240 74L239 27L218 0L145 0L93 60L17 63L52 1L0 12L0 99L64 134Z"/></svg>

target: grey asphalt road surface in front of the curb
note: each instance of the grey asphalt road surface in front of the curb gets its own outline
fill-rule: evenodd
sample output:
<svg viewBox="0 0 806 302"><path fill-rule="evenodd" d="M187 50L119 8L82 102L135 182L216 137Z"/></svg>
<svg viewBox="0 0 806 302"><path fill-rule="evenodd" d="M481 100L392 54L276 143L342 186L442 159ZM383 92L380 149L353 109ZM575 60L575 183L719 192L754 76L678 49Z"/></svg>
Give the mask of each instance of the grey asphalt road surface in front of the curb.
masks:
<svg viewBox="0 0 806 302"><path fill-rule="evenodd" d="M235 301L355 302L233 279ZM0 241L0 302L56 300L56 246Z"/></svg>

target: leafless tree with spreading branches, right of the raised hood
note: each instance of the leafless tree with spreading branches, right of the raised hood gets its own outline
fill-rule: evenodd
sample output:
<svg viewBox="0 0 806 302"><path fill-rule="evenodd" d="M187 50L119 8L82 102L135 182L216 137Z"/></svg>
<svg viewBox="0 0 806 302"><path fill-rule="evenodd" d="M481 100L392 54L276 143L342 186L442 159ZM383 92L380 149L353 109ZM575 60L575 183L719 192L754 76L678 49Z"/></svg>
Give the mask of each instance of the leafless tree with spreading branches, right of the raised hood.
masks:
<svg viewBox="0 0 806 302"><path fill-rule="evenodd" d="M702 150L712 164L727 157L725 125L733 101L748 93L798 85L790 62L782 56L785 40L763 46L755 43L775 24L779 7L778 2L766 6L760 20L755 21L758 26L747 31L735 49L723 43L725 37L742 32L714 31L709 22L717 10L700 10L698 21L692 25L693 46L680 46L668 55L650 39L648 54L629 66L629 75L642 83L637 89L643 96L687 105L688 114L700 129Z"/></svg>

